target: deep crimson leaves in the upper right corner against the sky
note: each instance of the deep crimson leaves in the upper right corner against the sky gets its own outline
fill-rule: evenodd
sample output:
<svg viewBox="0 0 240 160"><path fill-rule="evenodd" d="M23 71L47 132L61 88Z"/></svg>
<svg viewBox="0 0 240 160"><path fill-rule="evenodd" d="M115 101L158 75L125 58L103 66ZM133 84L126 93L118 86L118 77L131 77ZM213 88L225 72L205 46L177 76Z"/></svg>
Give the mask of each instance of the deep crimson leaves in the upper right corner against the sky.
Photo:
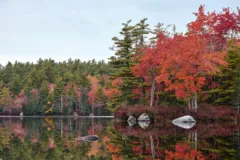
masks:
<svg viewBox="0 0 240 160"><path fill-rule="evenodd" d="M208 42L209 51L225 49L227 40L234 40L240 31L240 11L235 13L229 8L223 8L222 12L204 13L204 6L200 6L194 13L196 20L188 24L188 35L202 35Z"/></svg>

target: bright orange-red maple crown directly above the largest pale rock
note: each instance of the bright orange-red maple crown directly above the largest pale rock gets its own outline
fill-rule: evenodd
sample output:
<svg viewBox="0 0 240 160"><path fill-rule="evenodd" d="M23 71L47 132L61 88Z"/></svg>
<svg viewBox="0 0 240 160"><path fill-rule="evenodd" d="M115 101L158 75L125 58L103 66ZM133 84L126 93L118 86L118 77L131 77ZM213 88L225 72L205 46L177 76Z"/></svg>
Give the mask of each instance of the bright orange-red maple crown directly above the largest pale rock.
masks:
<svg viewBox="0 0 240 160"><path fill-rule="evenodd" d="M156 80L164 82L166 90L174 90L178 98L187 98L200 91L204 76L215 74L219 71L218 66L226 65L225 53L208 53L207 43L201 35L175 35L166 40L168 45L162 46L159 42L157 45L157 50L162 52L158 59L160 74ZM167 58L163 61L163 57Z"/></svg>

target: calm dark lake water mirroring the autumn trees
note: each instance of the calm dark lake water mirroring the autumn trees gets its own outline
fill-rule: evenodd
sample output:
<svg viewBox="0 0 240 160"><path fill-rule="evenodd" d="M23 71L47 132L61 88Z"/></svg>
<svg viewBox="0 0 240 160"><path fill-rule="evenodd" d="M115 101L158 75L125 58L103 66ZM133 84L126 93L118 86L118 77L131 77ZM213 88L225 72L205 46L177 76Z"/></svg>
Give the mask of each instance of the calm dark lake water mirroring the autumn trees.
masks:
<svg viewBox="0 0 240 160"><path fill-rule="evenodd" d="M111 118L0 118L0 159L240 159L239 128L234 123L183 129L171 123L130 127ZM76 140L87 135L99 140Z"/></svg>

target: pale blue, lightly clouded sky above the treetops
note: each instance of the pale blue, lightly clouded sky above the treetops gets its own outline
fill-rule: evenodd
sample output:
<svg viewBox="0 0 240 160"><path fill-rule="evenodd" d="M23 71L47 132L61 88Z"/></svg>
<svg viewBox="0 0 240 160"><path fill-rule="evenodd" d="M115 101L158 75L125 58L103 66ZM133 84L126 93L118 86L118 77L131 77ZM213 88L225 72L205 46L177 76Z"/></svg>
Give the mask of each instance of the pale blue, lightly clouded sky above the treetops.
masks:
<svg viewBox="0 0 240 160"><path fill-rule="evenodd" d="M0 0L0 64L107 61L122 23L148 18L150 27L161 22L185 32L200 4L207 11L240 7L239 0Z"/></svg>

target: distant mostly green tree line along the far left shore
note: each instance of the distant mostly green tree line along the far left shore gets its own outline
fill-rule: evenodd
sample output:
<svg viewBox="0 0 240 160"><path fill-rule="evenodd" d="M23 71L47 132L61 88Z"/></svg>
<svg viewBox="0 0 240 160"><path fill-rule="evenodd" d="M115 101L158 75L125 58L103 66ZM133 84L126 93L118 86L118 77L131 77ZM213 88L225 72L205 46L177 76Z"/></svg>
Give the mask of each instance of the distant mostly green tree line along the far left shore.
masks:
<svg viewBox="0 0 240 160"><path fill-rule="evenodd" d="M23 110L27 115L72 114L73 111L89 114L90 79L96 77L100 85L105 85L110 72L106 62L94 59L59 63L39 59L36 64L8 62L0 69L1 110Z"/></svg>

